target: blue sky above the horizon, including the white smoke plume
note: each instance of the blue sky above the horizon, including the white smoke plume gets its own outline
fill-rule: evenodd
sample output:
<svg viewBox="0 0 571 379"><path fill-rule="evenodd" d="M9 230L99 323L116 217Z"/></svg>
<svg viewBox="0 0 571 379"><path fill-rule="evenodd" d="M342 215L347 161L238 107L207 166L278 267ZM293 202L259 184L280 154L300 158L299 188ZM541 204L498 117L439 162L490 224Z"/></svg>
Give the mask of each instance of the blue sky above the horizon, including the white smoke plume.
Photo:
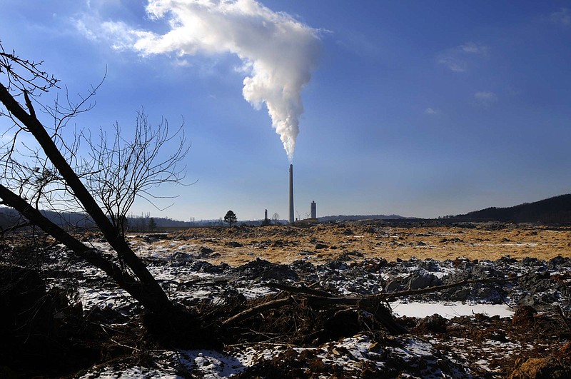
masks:
<svg viewBox="0 0 571 379"><path fill-rule="evenodd" d="M571 193L570 0L2 0L0 41L105 77L78 128L183 123L189 185L136 216L286 219L290 163L296 218Z"/></svg>

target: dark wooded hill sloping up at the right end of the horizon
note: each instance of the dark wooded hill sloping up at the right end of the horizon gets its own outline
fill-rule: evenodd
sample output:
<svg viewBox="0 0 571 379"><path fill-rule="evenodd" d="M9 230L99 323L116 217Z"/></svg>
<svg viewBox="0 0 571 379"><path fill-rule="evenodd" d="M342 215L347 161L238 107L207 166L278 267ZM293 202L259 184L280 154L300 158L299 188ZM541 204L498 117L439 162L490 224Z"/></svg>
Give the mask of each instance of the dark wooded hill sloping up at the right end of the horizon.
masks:
<svg viewBox="0 0 571 379"><path fill-rule="evenodd" d="M453 221L502 221L516 223L571 223L571 194L523 203L509 208L485 208L465 215L451 216Z"/></svg>

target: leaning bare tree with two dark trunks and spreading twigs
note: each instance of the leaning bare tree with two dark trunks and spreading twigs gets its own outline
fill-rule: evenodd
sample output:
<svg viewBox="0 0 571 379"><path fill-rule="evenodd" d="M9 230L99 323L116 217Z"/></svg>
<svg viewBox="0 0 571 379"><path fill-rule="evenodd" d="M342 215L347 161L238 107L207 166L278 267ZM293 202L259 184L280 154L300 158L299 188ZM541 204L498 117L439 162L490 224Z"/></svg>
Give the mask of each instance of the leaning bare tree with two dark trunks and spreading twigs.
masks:
<svg viewBox="0 0 571 379"><path fill-rule="evenodd" d="M86 139L84 134L74 131L74 138L66 142L64 126L91 109L89 100L98 86L91 88L87 96L80 96L76 103L66 96L65 106L57 99L53 107L45 106L39 103L39 96L59 87L53 76L41 71L41 63L21 59L14 52L7 53L0 43L0 103L4 106L0 107L0 116L12 121L12 125L2 131L2 140L8 142L0 148L0 164L4 171L0 178L1 203L15 208L30 223L63 243L76 256L101 268L151 313L168 313L173 309L172 303L126 243L122 218L135 196L149 198L151 187L162 181L177 183L183 178L177 163L188 150L184 147L184 138L179 140L181 146L174 155L157 162L158 151L172 137L166 128L152 131L140 113L137 122L140 134L133 143L118 136L111 148L102 143L97 149L96 144L90 143L91 158L81 159L76 153L81 140ZM40 121L33 103L39 105L42 113L53 122L51 126ZM118 128L115 132L118 133ZM24 133L31 134L37 144L32 146L29 138L22 143L19 136ZM120 157L118 161L117 157ZM95 165L93 161L96 161ZM118 166L118 163L133 171L131 176L125 176L125 181L113 176L125 170L125 166ZM111 165L104 167L106 173L113 175L108 181L103 181L102 168L106 164ZM81 243L40 212L44 206L69 211L70 201L89 215L103 233L116 252L114 260L93 246Z"/></svg>

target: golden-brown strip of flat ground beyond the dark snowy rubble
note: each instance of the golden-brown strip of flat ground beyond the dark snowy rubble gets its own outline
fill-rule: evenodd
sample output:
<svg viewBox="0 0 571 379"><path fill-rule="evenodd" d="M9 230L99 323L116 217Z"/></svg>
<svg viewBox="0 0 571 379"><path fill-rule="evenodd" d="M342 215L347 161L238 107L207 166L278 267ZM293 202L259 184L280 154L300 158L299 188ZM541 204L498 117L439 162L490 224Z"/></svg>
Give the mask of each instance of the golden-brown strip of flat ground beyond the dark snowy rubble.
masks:
<svg viewBox="0 0 571 379"><path fill-rule="evenodd" d="M194 246L218 253L208 259L213 264L238 266L256 258L272 263L308 259L325 263L350 256L385 258L387 261L411 257L438 261L458 257L515 259L535 257L549 260L571 256L570 228L481 223L456 226L400 226L373 223L318 224L310 226L268 226L235 228L192 228L161 241L165 248ZM161 246L153 244L157 248Z"/></svg>

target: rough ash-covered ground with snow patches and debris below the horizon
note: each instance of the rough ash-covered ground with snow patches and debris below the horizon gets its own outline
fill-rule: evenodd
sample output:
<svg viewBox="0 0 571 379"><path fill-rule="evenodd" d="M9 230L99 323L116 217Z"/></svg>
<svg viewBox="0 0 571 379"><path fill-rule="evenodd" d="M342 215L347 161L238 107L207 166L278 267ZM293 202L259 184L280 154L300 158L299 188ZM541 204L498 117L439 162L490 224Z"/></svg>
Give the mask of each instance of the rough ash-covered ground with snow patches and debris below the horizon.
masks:
<svg viewBox="0 0 571 379"><path fill-rule="evenodd" d="M160 320L96 268L21 237L0 256L3 317L21 320L4 338L0 376L571 375L570 228L361 221L128 240L172 300L222 325L218 343L167 342L151 330ZM108 251L96 234L84 241ZM26 299L39 298L32 315Z"/></svg>

